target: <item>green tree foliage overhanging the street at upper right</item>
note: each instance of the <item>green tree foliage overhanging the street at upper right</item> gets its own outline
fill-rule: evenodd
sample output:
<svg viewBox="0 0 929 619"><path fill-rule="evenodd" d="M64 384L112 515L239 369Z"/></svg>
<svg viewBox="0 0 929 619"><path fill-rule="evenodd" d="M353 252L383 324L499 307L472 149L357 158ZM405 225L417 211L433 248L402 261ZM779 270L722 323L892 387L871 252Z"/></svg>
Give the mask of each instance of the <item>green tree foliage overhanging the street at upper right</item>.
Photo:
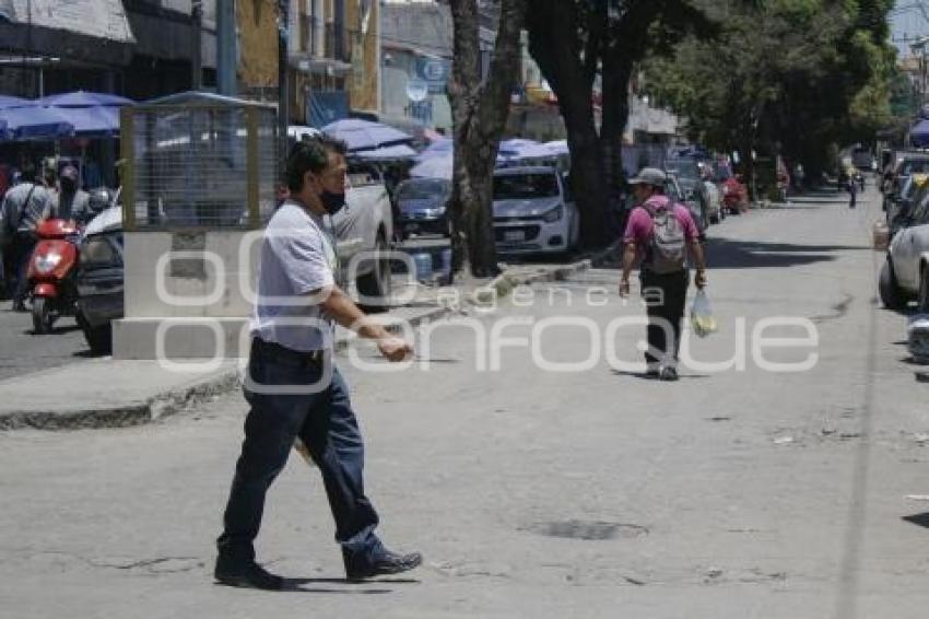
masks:
<svg viewBox="0 0 929 619"><path fill-rule="evenodd" d="M649 92L686 117L691 139L816 172L833 144L869 142L891 124L893 0L707 4L717 37L646 62Z"/></svg>

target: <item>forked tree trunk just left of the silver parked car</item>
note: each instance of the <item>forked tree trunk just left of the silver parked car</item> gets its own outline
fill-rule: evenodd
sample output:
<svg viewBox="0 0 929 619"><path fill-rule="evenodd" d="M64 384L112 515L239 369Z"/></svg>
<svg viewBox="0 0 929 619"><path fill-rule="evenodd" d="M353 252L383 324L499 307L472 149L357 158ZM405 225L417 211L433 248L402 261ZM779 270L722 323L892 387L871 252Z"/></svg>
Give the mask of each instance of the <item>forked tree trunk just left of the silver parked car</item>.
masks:
<svg viewBox="0 0 929 619"><path fill-rule="evenodd" d="M499 272L493 227L493 178L499 140L517 82L525 0L502 0L490 74L481 80L477 0L451 0L455 59L448 95L455 137L450 201L454 269Z"/></svg>

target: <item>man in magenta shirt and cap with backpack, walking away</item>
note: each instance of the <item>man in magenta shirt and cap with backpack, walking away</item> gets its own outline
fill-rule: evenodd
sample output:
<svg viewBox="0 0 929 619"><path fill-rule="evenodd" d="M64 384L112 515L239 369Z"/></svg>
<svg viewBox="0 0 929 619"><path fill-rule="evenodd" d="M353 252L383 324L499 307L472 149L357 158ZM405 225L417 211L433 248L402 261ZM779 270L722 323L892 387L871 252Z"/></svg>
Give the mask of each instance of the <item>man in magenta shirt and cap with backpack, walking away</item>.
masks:
<svg viewBox="0 0 929 619"><path fill-rule="evenodd" d="M696 223L686 207L665 196L666 180L662 171L644 167L628 182L638 206L630 214L623 236L620 296L628 296L630 273L640 257L642 297L648 313L647 374L677 381L681 320L690 283L686 258L690 255L696 264L694 282L701 289L706 285L706 262Z"/></svg>

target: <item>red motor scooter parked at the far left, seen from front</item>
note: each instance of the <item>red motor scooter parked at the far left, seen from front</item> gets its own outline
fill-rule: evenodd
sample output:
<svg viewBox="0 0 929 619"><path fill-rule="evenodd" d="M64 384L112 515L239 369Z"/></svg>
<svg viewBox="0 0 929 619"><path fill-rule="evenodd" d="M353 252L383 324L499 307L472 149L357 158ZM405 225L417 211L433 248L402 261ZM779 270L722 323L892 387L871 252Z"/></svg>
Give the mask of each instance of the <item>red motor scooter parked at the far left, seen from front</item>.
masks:
<svg viewBox="0 0 929 619"><path fill-rule="evenodd" d="M78 227L61 219L36 226L39 241L30 258L33 329L48 334L61 316L74 316L78 308Z"/></svg>

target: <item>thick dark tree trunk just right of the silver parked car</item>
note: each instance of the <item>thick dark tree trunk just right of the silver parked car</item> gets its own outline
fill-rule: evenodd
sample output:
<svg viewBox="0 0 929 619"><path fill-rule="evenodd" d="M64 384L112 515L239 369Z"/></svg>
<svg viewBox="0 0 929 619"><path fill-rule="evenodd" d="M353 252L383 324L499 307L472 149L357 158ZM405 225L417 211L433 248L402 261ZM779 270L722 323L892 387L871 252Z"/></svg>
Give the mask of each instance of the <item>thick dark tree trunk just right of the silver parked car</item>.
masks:
<svg viewBox="0 0 929 619"><path fill-rule="evenodd" d="M605 11L605 3L589 8L574 1L531 0L527 15L530 52L557 96L567 129L580 242L588 247L609 240L608 187L592 101Z"/></svg>

